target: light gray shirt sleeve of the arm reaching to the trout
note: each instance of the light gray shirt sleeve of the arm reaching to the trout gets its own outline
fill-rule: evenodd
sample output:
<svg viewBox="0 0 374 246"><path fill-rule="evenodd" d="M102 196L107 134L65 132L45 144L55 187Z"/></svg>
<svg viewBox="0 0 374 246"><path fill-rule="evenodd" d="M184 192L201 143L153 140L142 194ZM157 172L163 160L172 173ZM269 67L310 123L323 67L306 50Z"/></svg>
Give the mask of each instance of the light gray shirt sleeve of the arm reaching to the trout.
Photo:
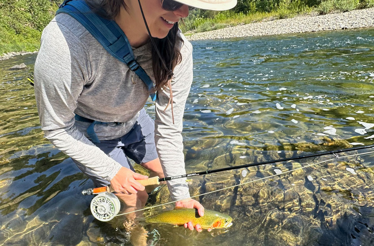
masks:
<svg viewBox="0 0 374 246"><path fill-rule="evenodd" d="M175 124L172 121L171 105L164 112L169 102L169 88L157 92L156 100L155 142L163 171L167 177L186 174L181 132L184 107L193 80L192 45L186 39L181 48L181 55L182 61L175 67L171 83ZM168 181L168 187L172 200L190 197L186 178Z"/></svg>

